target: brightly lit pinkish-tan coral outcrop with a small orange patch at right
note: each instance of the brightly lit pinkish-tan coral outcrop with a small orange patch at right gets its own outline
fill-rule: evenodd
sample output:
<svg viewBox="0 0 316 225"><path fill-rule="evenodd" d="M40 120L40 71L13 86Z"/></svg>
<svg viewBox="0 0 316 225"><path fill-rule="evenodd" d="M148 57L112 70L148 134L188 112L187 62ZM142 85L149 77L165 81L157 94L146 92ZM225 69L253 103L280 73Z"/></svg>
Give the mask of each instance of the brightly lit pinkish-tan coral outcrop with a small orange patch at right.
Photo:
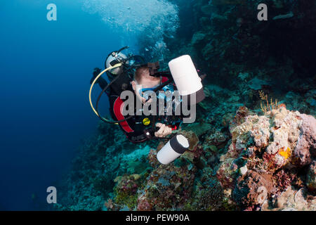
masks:
<svg viewBox="0 0 316 225"><path fill-rule="evenodd" d="M216 174L220 184L232 189L233 200L249 210L276 201L291 186L313 190L315 168L310 151L315 149L315 128L315 117L284 107L262 116L246 116L231 131L232 143L220 157ZM301 173L307 165L308 179L302 184Z"/></svg>

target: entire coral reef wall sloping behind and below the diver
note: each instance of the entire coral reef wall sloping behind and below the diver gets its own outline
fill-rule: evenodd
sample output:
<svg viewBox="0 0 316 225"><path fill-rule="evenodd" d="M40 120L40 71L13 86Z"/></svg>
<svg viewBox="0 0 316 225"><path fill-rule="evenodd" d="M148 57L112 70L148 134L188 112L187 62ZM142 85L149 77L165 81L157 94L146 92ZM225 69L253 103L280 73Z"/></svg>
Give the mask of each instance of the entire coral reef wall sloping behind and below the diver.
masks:
<svg viewBox="0 0 316 225"><path fill-rule="evenodd" d="M160 165L166 141L133 145L101 122L58 210L316 210L316 5L268 0L262 23L258 0L171 2L180 27L162 68L190 54L207 74L197 121L179 131L190 149Z"/></svg>

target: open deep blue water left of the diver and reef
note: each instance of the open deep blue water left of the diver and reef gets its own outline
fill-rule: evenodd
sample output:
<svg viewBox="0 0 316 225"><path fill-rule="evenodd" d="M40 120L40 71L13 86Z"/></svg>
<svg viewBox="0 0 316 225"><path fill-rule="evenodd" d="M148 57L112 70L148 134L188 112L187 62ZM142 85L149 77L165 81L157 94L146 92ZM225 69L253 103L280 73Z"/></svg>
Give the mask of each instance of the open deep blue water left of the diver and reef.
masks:
<svg viewBox="0 0 316 225"><path fill-rule="evenodd" d="M91 72L122 40L77 1L0 1L0 25L0 210L45 210L46 188L96 129Z"/></svg>

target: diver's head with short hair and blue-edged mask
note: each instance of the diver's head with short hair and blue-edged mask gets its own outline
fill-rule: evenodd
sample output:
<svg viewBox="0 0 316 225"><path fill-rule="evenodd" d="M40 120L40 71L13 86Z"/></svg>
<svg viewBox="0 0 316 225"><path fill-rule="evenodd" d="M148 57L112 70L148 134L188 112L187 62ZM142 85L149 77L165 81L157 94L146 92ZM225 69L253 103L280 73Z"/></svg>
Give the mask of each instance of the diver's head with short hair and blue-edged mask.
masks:
<svg viewBox="0 0 316 225"><path fill-rule="evenodd" d="M147 66L143 66L136 70L131 84L138 99L145 103L146 99L141 96L142 92L149 91L158 86L160 84L160 78L150 76L149 68L147 68Z"/></svg>

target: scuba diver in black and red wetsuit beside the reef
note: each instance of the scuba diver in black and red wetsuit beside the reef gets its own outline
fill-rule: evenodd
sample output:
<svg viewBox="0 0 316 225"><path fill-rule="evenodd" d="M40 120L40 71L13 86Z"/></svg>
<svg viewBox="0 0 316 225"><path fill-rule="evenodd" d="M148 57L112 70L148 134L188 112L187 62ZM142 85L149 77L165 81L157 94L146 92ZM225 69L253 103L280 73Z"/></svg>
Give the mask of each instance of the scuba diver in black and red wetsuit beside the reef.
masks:
<svg viewBox="0 0 316 225"><path fill-rule="evenodd" d="M91 89L94 84L98 84L103 91L98 96L96 109L91 103L91 89L89 93L91 107L93 111L104 122L111 124L119 124L126 138L133 143L140 143L150 139L166 139L166 136L173 130L179 129L184 115L127 115L122 114L124 101L121 99L123 91L132 91L136 96L134 101L138 101L134 105L141 103L144 105L147 101L151 101L150 97L145 96L146 91L157 92L161 90L175 91L176 85L173 83L173 77L170 72L159 72L159 63L145 63L142 56L134 56L129 54L126 56L121 53L126 46L119 51L113 51L105 60L105 70L101 72L100 68L95 68L91 79ZM108 83L101 75L106 72L110 82ZM201 84L202 85L202 84ZM138 87L142 88L139 89ZM106 93L110 101L110 115L113 121L100 116L98 112L98 103L101 96ZM159 98L159 94L157 95ZM204 92L202 89L197 95L197 101L202 101ZM165 96L164 96L165 97ZM165 97L166 98L166 97ZM134 112L136 112L134 108Z"/></svg>

